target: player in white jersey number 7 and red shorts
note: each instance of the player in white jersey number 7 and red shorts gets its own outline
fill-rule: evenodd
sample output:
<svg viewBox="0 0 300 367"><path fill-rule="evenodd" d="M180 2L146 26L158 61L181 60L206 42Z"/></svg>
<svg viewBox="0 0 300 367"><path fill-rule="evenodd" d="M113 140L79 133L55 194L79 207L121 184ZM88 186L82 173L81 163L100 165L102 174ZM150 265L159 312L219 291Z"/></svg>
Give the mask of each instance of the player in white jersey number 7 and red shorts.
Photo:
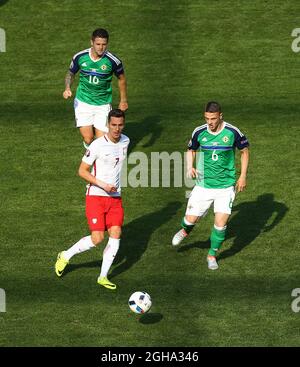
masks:
<svg viewBox="0 0 300 367"><path fill-rule="evenodd" d="M88 181L86 217L91 234L58 254L55 272L59 277L74 255L98 246L107 230L109 240L103 251L97 282L108 289L116 289L107 274L119 249L124 219L120 176L129 145L129 138L122 134L124 124L124 112L111 110L108 114L108 133L95 139L82 158L78 173Z"/></svg>

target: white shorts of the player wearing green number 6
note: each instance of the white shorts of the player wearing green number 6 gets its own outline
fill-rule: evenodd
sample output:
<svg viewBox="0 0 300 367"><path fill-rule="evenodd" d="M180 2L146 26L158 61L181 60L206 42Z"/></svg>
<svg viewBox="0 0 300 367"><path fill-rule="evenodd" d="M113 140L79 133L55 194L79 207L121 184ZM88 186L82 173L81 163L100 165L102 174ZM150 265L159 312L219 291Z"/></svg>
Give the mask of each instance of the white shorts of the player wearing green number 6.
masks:
<svg viewBox="0 0 300 367"><path fill-rule="evenodd" d="M234 198L234 186L226 189L206 189L194 186L185 214L203 217L207 214L212 203L214 203L214 213L231 214Z"/></svg>

